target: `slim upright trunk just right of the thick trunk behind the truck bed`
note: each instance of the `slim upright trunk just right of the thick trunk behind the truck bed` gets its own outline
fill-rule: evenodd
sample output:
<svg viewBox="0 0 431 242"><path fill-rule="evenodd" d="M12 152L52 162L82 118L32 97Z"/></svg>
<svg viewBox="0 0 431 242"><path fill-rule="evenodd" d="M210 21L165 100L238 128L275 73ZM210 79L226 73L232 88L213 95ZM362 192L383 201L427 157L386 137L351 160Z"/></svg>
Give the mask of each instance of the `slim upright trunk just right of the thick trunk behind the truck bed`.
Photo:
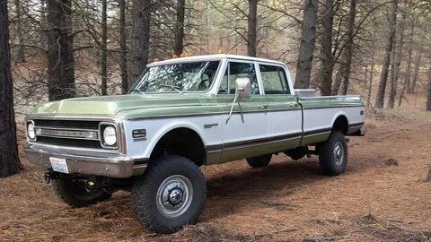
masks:
<svg viewBox="0 0 431 242"><path fill-rule="evenodd" d="M332 89L332 69L334 60L332 56L332 24L334 22L334 1L325 0L321 25L321 95L329 96Z"/></svg>

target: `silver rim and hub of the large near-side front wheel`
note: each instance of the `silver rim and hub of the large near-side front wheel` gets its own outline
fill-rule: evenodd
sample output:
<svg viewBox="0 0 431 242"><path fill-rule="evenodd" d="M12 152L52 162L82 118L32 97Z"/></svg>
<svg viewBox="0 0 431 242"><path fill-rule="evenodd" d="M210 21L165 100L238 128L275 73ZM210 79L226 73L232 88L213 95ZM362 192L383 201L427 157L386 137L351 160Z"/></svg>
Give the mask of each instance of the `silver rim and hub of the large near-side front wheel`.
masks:
<svg viewBox="0 0 431 242"><path fill-rule="evenodd" d="M177 218L189 209L193 186L187 177L167 177L157 190L157 209L167 218Z"/></svg>

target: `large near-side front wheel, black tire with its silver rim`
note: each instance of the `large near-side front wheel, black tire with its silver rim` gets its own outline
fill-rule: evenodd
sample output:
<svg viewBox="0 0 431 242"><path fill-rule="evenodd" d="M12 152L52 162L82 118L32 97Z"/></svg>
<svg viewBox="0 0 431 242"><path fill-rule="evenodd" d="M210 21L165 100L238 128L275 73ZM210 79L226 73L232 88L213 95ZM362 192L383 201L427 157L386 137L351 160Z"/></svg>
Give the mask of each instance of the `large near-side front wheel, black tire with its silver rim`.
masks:
<svg viewBox="0 0 431 242"><path fill-rule="evenodd" d="M136 217L156 233L172 233L198 220L207 197L205 177L181 156L153 160L132 187Z"/></svg>

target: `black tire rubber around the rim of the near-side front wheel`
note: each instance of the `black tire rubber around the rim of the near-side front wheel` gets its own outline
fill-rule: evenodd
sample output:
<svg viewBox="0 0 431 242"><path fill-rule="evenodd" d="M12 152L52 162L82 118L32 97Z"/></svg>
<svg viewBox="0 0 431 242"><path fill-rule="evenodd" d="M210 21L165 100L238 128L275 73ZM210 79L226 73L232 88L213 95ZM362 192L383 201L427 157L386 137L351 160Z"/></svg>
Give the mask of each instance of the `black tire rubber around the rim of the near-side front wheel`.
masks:
<svg viewBox="0 0 431 242"><path fill-rule="evenodd" d="M163 181L174 175L187 177L193 187L189 208L176 218L168 218L157 208L157 192ZM170 155L152 160L145 174L136 177L132 186L132 203L137 220L156 233L172 233L194 224L202 212L207 197L206 180L191 160Z"/></svg>

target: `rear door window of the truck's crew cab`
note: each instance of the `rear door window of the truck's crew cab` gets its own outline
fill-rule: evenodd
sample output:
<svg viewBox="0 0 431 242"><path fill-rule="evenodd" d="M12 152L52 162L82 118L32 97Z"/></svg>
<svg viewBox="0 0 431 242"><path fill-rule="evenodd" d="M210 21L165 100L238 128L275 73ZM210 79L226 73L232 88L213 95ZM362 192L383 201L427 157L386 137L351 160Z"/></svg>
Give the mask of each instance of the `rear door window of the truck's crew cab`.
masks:
<svg viewBox="0 0 431 242"><path fill-rule="evenodd" d="M265 94L290 94L285 70L275 65L259 65Z"/></svg>

